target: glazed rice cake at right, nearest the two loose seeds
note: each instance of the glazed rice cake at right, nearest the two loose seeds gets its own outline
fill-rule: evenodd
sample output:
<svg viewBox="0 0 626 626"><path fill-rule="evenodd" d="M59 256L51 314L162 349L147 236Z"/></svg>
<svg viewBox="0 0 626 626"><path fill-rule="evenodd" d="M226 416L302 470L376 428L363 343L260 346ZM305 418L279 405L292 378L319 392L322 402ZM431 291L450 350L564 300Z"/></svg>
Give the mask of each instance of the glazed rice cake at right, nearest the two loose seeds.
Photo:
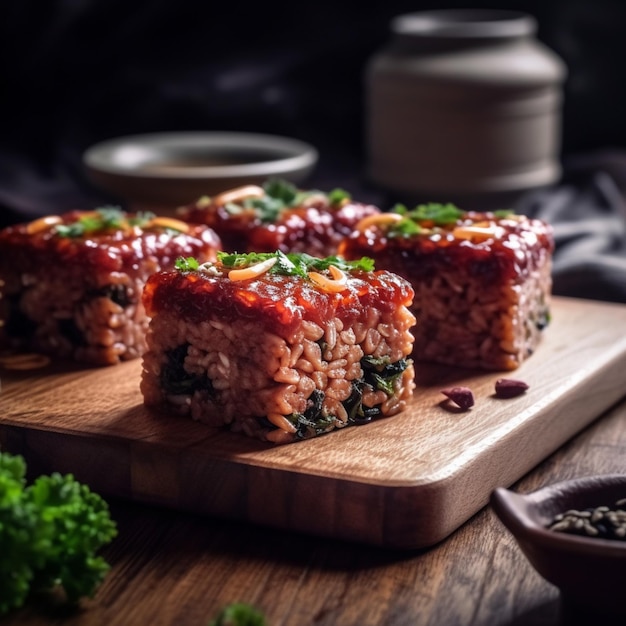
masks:
<svg viewBox="0 0 626 626"><path fill-rule="evenodd" d="M487 370L514 370L537 348L550 319L553 250L543 221L451 204L365 218L340 247L410 281L416 361Z"/></svg>

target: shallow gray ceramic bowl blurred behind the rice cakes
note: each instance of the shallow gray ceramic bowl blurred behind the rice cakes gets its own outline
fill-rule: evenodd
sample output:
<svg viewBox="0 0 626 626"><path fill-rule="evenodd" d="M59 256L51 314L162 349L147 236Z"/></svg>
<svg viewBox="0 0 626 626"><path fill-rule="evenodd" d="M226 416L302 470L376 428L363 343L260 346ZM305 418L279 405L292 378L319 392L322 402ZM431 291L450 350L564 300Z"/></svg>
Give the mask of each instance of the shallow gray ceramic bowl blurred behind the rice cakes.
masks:
<svg viewBox="0 0 626 626"><path fill-rule="evenodd" d="M271 177L298 184L317 160L317 150L296 139L200 131L120 137L83 155L90 179L131 209L166 210Z"/></svg>

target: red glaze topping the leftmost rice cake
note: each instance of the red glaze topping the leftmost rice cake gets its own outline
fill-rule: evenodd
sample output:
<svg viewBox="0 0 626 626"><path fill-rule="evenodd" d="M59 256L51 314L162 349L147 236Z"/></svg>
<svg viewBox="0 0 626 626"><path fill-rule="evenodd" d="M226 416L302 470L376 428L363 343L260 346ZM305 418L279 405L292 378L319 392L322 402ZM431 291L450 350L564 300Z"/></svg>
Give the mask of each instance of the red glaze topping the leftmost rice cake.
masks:
<svg viewBox="0 0 626 626"><path fill-rule="evenodd" d="M86 211L60 215L63 224L76 222ZM132 217L133 214L125 214ZM80 237L62 237L54 227L30 234L28 224L0 231L2 256L9 251L15 269L71 264L104 272L132 274L144 259L156 257L161 267L172 267L179 256L215 260L221 242L216 233L202 225L191 225L187 233L174 233L161 227L143 230L138 226Z"/></svg>

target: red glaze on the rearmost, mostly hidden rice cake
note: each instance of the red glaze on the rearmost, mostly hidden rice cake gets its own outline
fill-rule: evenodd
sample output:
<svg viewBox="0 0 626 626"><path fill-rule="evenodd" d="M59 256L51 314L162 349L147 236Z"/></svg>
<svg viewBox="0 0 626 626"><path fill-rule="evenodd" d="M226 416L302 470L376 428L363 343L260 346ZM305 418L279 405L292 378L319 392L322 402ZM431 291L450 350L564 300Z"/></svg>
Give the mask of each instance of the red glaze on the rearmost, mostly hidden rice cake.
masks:
<svg viewBox="0 0 626 626"><path fill-rule="evenodd" d="M285 209L271 223L262 222L252 209L233 214L211 204L186 207L179 217L213 228L226 252L280 250L324 257L336 253L359 220L377 213L380 209L369 204L349 202L339 207L316 199L307 206Z"/></svg>

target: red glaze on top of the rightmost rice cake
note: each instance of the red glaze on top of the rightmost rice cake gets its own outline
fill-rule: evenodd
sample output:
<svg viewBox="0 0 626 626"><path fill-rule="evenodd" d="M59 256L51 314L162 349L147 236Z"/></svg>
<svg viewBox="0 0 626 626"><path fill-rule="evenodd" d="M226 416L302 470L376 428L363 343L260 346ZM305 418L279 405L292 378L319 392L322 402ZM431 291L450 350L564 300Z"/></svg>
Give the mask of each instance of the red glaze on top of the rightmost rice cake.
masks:
<svg viewBox="0 0 626 626"><path fill-rule="evenodd" d="M503 236L461 239L457 226L491 221ZM382 229L354 232L343 241L339 253L346 259L369 256L381 268L410 280L432 278L448 267L463 268L472 278L489 283L523 280L554 250L552 229L545 222L517 216L496 218L492 213L469 212L456 224L432 233L387 237Z"/></svg>

